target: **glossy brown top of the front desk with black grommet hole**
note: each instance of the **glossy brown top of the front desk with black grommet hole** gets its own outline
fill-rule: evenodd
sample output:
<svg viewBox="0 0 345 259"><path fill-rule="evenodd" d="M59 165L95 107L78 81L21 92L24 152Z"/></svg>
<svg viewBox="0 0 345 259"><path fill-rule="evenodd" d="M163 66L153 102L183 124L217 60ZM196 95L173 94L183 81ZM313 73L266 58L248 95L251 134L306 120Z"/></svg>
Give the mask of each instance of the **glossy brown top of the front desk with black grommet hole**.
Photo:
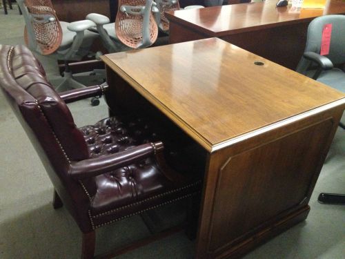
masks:
<svg viewBox="0 0 345 259"><path fill-rule="evenodd" d="M216 38L102 59L208 151L336 100L345 103L342 93Z"/></svg>

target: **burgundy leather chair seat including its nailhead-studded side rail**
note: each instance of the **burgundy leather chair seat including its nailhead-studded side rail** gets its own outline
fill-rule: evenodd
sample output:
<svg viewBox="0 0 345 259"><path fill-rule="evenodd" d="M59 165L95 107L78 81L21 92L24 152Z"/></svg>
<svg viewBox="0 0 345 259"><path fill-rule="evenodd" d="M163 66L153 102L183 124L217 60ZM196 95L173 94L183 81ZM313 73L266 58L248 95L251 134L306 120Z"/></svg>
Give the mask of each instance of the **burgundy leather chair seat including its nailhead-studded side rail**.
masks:
<svg viewBox="0 0 345 259"><path fill-rule="evenodd" d="M138 122L139 121L139 122ZM93 126L80 128L90 157L124 151L132 146L156 141L155 133L140 119L121 122L116 117L102 119ZM152 157L137 164L95 178L95 192L91 198L90 217L95 226L137 214L141 209L157 207L166 200L190 195L190 189L175 186L168 180ZM195 192L199 191L194 184ZM90 191L92 193L92 191ZM182 193L182 195L181 195Z"/></svg>

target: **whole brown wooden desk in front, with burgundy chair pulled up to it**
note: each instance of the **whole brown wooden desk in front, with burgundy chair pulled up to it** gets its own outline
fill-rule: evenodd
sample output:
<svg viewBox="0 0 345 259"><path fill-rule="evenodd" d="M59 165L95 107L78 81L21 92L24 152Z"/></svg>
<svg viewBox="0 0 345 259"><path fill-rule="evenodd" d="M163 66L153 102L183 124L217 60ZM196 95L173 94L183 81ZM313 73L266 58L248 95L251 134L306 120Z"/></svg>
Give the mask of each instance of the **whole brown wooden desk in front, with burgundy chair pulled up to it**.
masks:
<svg viewBox="0 0 345 259"><path fill-rule="evenodd" d="M217 38L102 59L112 113L153 106L206 153L196 258L238 256L306 218L342 93Z"/></svg>

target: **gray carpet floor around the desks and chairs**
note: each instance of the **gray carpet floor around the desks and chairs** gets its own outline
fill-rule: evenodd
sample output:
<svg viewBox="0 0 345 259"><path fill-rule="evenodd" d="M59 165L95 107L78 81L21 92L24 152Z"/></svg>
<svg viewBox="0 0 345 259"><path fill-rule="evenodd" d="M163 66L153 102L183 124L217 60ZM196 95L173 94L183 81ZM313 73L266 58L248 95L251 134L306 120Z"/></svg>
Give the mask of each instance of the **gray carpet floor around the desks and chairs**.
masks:
<svg viewBox="0 0 345 259"><path fill-rule="evenodd" d="M9 10L9 15L0 9L0 44L23 44L23 17L17 7ZM48 77L56 78L55 62L39 59ZM103 99L97 107L82 101L71 104L70 109L78 126L94 124L108 113ZM0 136L0 258L79 258L81 235L77 224L64 208L52 209L52 184L2 94ZM345 131L341 128L315 186L307 220L244 258L345 258L345 207L319 204L317 195L322 191L345 193ZM166 210L175 212L174 208ZM97 232L97 253L146 236L148 229L139 216L116 222ZM119 258L193 258L194 246L184 233L177 233Z"/></svg>

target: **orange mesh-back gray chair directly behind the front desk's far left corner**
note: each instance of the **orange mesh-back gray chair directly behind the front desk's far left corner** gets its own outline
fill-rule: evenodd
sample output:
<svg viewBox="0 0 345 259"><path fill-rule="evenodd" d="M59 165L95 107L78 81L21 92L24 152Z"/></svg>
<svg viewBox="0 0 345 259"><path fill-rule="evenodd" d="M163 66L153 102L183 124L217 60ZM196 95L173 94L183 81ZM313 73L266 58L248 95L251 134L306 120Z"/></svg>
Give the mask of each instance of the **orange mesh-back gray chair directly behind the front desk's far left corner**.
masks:
<svg viewBox="0 0 345 259"><path fill-rule="evenodd" d="M95 13L87 15L86 19L96 23L108 52L119 52L155 43L158 27L152 10L156 9L153 0L120 0L115 23Z"/></svg>

